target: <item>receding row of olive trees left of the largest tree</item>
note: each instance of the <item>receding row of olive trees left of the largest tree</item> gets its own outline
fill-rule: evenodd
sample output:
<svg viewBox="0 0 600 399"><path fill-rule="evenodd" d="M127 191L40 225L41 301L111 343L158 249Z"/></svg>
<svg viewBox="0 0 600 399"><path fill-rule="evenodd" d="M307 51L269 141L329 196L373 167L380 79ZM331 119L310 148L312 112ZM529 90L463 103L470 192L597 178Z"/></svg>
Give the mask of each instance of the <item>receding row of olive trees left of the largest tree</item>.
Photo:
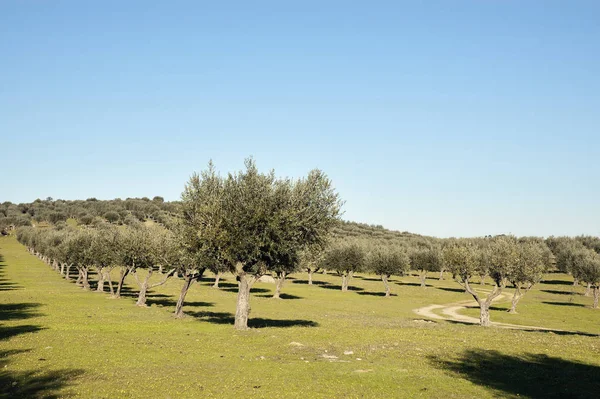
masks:
<svg viewBox="0 0 600 399"><path fill-rule="evenodd" d="M108 283L112 298L121 297L125 278L133 275L138 285L138 306L145 306L149 289L167 282L176 272L188 277L189 263L187 248L181 245L175 234L158 226L116 228L101 225L89 228L34 228L22 227L17 238L29 251L38 256L67 280L71 280L71 269L77 270L76 284L91 290L90 271L95 271L97 292L105 292ZM164 269L169 271L163 273ZM116 281L113 281L115 272ZM159 281L151 278L161 272ZM113 285L116 283L116 287ZM182 315L183 299L179 298L176 315Z"/></svg>

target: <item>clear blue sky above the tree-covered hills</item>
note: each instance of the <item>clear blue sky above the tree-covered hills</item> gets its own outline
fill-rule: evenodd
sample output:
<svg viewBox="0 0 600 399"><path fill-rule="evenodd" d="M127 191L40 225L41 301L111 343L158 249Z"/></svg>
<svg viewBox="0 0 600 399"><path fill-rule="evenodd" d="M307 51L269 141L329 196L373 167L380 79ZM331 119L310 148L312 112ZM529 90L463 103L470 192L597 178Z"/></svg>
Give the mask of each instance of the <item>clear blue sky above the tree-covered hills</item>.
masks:
<svg viewBox="0 0 600 399"><path fill-rule="evenodd" d="M600 2L0 1L0 202L323 169L345 218L600 234Z"/></svg>

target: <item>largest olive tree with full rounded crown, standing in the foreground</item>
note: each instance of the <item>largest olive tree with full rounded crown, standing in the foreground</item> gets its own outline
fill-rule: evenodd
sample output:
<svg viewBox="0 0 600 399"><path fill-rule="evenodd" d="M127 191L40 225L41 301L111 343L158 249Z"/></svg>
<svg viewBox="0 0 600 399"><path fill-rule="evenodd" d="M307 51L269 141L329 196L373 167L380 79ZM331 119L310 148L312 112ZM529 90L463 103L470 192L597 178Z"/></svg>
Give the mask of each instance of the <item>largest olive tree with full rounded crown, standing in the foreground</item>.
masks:
<svg viewBox="0 0 600 399"><path fill-rule="evenodd" d="M323 243L340 206L319 170L299 180L278 179L247 159L244 171L226 178L212 163L192 176L182 194L182 219L197 232L201 258L225 260L239 281L236 329L248 328L252 285L282 262L295 267L307 245Z"/></svg>

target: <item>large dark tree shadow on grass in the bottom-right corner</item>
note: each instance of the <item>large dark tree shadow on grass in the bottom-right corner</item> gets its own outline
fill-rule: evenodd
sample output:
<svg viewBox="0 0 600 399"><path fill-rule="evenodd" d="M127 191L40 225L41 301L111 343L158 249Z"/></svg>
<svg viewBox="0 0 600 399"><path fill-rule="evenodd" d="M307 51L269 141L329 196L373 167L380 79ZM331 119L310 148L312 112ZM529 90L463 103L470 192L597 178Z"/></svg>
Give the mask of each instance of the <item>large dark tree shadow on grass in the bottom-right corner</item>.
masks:
<svg viewBox="0 0 600 399"><path fill-rule="evenodd" d="M513 356L471 349L457 358L430 356L429 360L501 397L589 398L600 390L600 367L544 354Z"/></svg>

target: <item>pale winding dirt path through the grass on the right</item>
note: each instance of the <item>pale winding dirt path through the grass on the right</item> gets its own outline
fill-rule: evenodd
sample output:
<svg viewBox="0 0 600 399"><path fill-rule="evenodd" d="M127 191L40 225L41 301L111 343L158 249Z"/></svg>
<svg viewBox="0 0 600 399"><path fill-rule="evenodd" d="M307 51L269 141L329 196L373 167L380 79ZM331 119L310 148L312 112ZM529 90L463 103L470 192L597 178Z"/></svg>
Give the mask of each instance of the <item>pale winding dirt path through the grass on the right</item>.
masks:
<svg viewBox="0 0 600 399"><path fill-rule="evenodd" d="M478 290L478 292L482 294L489 294L489 290ZM494 298L493 302L500 302L503 299L509 298L509 295L506 293L502 293ZM450 320L450 321L458 321L461 323L469 323L469 324L479 324L479 319L476 317L467 316L464 314L460 314L459 312L465 310L466 308L477 308L479 305L475 300L468 301L460 301L453 302L446 305L428 305L422 308L414 309L413 312L418 314L419 316L434 319L434 320ZM509 324L509 323L498 323L492 322L492 326L501 327L501 328L510 328L514 330L539 330L539 331L564 331L558 330L555 328L544 328L539 326L524 326L519 324Z"/></svg>

